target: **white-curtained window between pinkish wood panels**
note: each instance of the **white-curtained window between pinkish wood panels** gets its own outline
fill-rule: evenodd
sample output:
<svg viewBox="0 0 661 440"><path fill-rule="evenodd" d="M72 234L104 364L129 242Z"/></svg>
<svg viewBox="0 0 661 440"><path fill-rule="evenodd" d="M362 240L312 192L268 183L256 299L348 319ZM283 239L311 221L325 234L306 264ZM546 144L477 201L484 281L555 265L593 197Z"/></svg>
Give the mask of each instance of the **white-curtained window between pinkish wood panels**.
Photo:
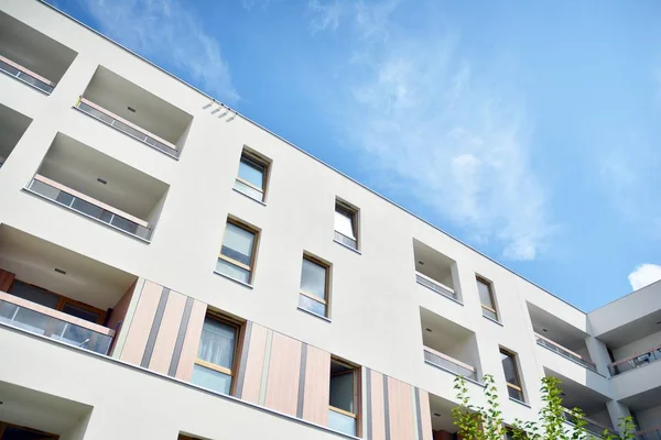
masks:
<svg viewBox="0 0 661 440"><path fill-rule="evenodd" d="M234 322L214 316L205 318L191 382L230 394L238 333L239 326Z"/></svg>

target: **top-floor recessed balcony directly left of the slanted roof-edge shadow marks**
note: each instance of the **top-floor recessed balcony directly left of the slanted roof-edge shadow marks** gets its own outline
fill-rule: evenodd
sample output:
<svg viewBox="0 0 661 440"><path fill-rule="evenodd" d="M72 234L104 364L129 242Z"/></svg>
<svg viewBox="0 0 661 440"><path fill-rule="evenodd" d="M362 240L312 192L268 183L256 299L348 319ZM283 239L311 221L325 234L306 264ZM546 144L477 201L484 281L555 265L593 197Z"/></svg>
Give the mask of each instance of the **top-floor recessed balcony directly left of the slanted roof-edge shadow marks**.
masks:
<svg viewBox="0 0 661 440"><path fill-rule="evenodd" d="M99 66L75 108L178 158L193 117Z"/></svg>

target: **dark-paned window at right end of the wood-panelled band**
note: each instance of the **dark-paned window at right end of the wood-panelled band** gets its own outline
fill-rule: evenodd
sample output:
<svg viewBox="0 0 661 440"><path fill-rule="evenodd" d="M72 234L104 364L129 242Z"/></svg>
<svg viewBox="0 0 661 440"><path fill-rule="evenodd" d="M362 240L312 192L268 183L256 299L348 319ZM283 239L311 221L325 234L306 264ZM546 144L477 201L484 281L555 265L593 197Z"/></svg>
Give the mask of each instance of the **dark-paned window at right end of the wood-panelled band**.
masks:
<svg viewBox="0 0 661 440"><path fill-rule="evenodd" d="M328 426L330 429L357 436L359 369L330 360L330 394Z"/></svg>

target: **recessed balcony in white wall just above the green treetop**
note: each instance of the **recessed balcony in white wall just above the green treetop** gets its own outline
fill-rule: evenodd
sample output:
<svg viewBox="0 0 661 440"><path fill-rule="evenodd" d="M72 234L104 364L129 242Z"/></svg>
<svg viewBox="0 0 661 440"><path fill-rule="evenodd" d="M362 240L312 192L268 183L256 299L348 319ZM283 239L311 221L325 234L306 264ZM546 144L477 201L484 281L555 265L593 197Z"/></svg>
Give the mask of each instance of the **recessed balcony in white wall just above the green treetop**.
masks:
<svg viewBox="0 0 661 440"><path fill-rule="evenodd" d="M475 333L422 307L420 321L424 363L479 382Z"/></svg>

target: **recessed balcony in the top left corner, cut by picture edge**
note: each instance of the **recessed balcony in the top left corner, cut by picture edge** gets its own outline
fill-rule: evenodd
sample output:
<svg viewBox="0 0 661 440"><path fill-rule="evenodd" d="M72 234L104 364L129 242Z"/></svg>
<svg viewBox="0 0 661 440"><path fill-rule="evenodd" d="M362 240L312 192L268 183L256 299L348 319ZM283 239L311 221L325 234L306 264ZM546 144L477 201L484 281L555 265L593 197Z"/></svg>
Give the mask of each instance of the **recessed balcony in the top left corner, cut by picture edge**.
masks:
<svg viewBox="0 0 661 440"><path fill-rule="evenodd" d="M0 12L0 72L50 95L76 53Z"/></svg>

